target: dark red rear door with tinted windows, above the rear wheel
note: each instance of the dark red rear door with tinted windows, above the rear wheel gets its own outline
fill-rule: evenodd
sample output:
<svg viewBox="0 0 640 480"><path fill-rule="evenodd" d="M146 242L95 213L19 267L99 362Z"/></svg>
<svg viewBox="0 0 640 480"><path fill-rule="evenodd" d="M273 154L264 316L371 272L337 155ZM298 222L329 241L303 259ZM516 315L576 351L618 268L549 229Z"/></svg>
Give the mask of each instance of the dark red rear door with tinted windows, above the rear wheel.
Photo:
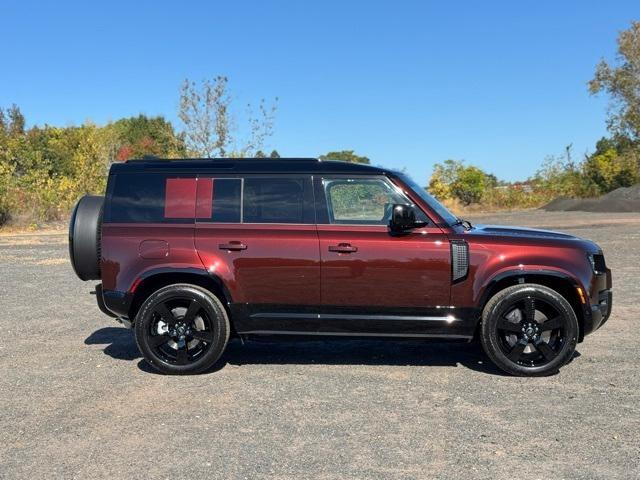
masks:
<svg viewBox="0 0 640 480"><path fill-rule="evenodd" d="M320 305L311 176L198 178L196 248L232 298L242 333L295 328Z"/></svg>

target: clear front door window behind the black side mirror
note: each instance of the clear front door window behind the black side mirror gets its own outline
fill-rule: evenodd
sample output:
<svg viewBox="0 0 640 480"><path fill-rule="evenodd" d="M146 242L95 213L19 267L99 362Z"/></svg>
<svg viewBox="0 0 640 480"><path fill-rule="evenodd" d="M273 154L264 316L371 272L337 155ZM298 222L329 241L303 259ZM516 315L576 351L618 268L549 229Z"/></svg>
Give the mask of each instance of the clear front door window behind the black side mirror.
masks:
<svg viewBox="0 0 640 480"><path fill-rule="evenodd" d="M384 178L335 178L322 181L330 223L387 225L394 204L409 204Z"/></svg>

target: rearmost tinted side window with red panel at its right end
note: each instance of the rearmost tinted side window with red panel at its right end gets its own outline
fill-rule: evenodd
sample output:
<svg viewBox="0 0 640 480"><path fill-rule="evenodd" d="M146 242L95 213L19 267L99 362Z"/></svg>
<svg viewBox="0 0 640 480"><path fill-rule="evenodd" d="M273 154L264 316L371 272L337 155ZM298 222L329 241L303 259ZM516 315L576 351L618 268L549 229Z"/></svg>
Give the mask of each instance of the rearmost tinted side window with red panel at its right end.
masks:
<svg viewBox="0 0 640 480"><path fill-rule="evenodd" d="M118 174L112 181L105 222L192 222L196 179L161 173Z"/></svg>

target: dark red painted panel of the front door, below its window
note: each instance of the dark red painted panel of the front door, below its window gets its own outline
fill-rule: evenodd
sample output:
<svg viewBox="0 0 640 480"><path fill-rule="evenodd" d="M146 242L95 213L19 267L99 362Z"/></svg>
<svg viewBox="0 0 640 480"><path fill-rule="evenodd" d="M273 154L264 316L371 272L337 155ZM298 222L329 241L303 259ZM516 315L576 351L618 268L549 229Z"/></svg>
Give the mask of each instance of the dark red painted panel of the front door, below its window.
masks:
<svg viewBox="0 0 640 480"><path fill-rule="evenodd" d="M318 225L318 235L323 305L449 305L450 247L439 228L392 236L382 225ZM343 243L357 251L329 250Z"/></svg>

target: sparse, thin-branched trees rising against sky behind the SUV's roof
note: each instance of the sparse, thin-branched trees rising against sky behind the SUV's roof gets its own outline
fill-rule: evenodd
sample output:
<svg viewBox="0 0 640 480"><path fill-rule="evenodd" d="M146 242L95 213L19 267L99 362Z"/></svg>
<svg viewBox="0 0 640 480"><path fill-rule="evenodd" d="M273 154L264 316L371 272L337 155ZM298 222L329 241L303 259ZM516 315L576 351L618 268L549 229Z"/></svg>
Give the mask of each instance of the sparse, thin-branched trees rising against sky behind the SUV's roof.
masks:
<svg viewBox="0 0 640 480"><path fill-rule="evenodd" d="M271 106L258 102L258 113L247 105L248 137L238 146L232 128L231 96L228 79L217 76L200 85L188 79L180 90L178 116L185 125L187 146L203 157L253 157L266 138L273 134L277 98Z"/></svg>

